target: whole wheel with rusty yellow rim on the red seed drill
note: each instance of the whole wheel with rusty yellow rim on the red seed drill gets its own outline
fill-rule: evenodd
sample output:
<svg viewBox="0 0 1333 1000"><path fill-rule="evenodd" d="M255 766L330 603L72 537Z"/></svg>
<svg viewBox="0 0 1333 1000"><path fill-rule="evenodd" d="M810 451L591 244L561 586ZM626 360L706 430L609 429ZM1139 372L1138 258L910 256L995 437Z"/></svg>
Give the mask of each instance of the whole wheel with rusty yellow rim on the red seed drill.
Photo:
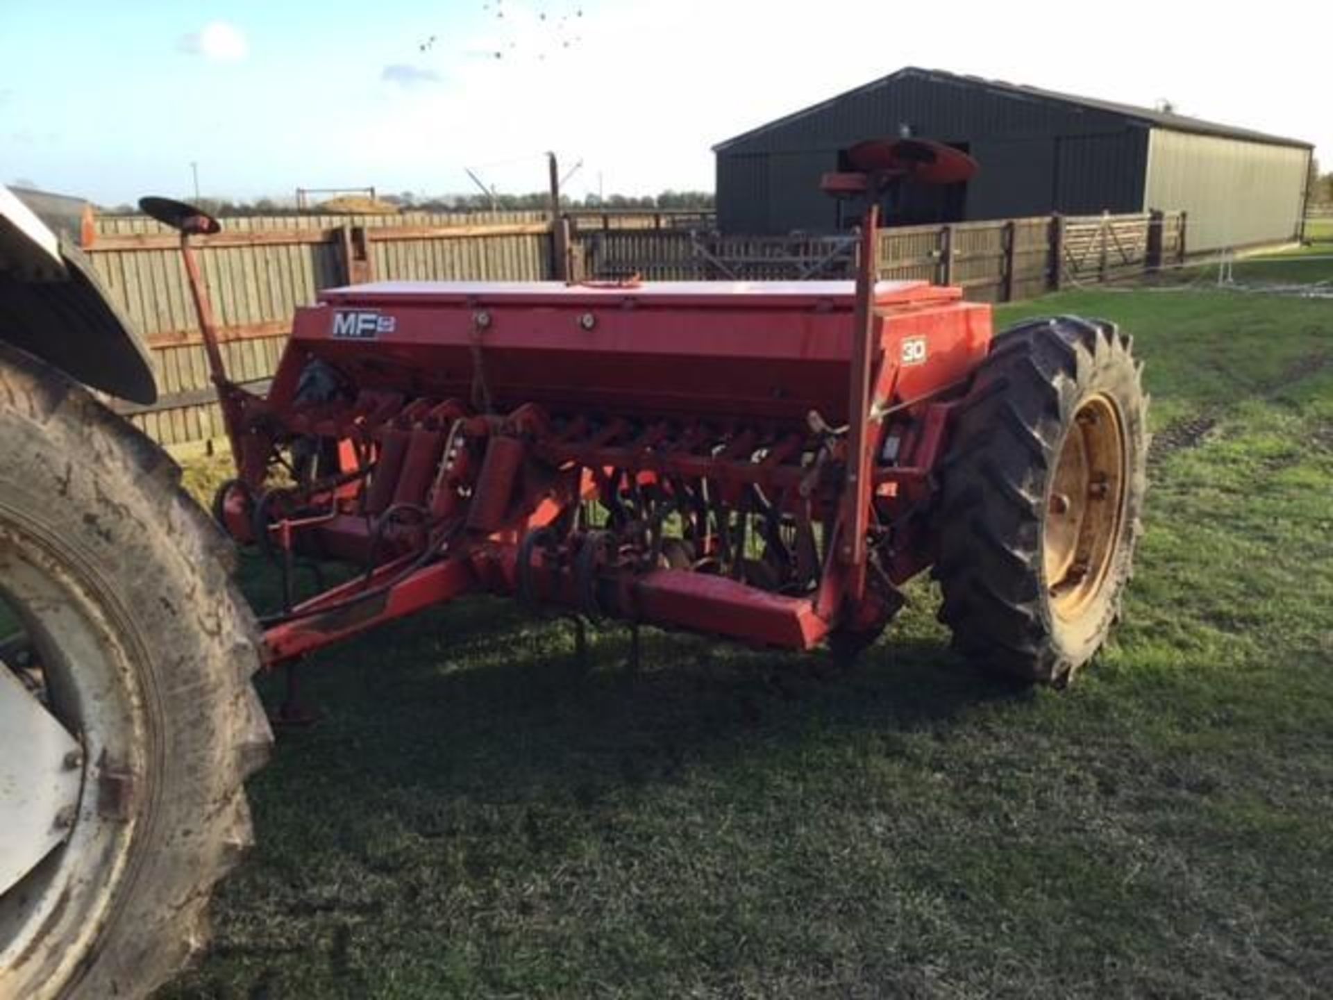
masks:
<svg viewBox="0 0 1333 1000"><path fill-rule="evenodd" d="M988 672L1062 684L1120 615L1146 491L1132 339L1073 316L1000 333L941 467L940 620Z"/></svg>

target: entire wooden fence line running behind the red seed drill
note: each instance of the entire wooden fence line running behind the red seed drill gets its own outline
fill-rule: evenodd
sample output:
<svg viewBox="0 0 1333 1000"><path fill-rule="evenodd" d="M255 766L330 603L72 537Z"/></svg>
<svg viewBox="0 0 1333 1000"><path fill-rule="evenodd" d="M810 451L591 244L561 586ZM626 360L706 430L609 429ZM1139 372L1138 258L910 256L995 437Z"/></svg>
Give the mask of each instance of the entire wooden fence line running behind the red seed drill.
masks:
<svg viewBox="0 0 1333 1000"><path fill-rule="evenodd" d="M197 237L232 377L263 383L300 305L323 288L376 279L802 280L848 277L853 236L720 236L684 216L617 224L541 213L235 219ZM624 223L624 224L620 224ZM1038 217L888 229L881 276L961 285L1008 301L1070 283L1150 271L1185 255L1184 213ZM167 445L223 435L173 232L145 219L97 220L85 252L112 301L147 337L161 399L119 409Z"/></svg>

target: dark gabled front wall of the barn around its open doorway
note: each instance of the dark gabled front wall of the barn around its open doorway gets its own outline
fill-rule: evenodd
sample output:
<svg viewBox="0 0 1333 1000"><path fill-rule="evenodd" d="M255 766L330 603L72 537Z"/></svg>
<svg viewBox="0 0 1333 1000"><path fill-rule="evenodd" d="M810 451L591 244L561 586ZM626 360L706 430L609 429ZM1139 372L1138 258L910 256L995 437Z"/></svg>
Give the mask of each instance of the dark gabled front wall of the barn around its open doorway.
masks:
<svg viewBox="0 0 1333 1000"><path fill-rule="evenodd" d="M988 91L965 80L906 75L828 101L717 153L724 232L836 231L818 192L837 153L872 136L968 143L981 163L966 219L1142 209L1146 129L1120 115ZM1058 137L1058 143L1056 141ZM824 208L817 208L820 201Z"/></svg>

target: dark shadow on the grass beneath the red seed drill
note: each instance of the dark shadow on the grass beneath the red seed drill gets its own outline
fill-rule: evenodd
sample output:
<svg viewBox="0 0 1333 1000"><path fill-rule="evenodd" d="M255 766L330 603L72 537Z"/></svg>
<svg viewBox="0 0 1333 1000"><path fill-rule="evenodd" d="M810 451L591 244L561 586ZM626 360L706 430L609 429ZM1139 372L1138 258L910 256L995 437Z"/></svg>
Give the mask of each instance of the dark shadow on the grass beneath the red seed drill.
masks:
<svg viewBox="0 0 1333 1000"><path fill-rule="evenodd" d="M352 825L373 817L428 837L459 832L455 804L473 820L479 804L524 807L531 824L533 813L592 809L696 768L762 780L812 736L942 736L973 705L1030 697L978 677L938 641L892 631L842 672L824 652L749 651L651 629L636 671L624 627L589 640L580 661L572 624L476 599L308 661L304 691L321 721L280 736L256 781L260 825L267 803L303 797L311 809L283 819L283 839L295 835L305 849L348 843L325 809L355 815ZM261 687L273 704L280 677Z"/></svg>

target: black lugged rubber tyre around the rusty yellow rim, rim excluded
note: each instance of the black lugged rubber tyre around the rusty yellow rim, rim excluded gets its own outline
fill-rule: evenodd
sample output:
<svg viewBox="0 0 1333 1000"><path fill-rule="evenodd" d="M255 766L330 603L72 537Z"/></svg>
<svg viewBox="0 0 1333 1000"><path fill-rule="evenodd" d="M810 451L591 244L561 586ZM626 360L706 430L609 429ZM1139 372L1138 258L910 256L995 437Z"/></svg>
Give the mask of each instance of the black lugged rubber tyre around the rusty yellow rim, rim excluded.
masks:
<svg viewBox="0 0 1333 1000"><path fill-rule="evenodd" d="M1024 321L996 335L956 409L940 467L932 575L942 592L938 619L952 629L954 648L988 672L1060 684L1088 659L1070 656L1052 637L1040 549L1044 484L1062 441L1064 415L1073 412L1081 387L1128 376L1140 400L1128 489L1141 499L1146 400L1132 344L1106 320ZM1132 548L1141 533L1137 507L1129 525ZM1126 555L1125 579L1129 565ZM1122 583L1110 595L1117 612Z"/></svg>

